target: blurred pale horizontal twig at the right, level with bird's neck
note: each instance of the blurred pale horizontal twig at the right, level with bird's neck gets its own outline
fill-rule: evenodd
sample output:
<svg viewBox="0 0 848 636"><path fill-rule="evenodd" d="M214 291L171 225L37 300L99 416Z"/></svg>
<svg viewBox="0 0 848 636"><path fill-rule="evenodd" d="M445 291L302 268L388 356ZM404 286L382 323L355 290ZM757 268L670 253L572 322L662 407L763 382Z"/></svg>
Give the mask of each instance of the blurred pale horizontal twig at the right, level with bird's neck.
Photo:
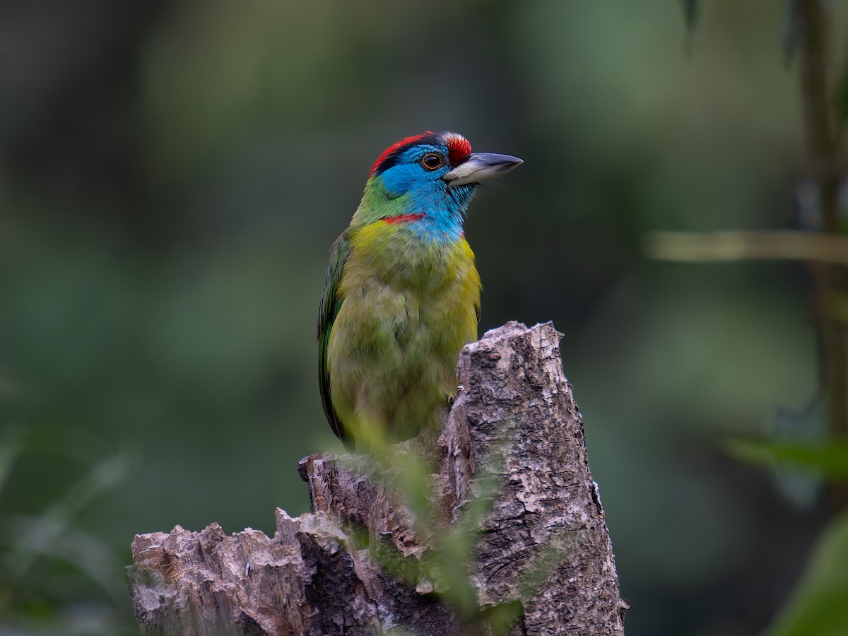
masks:
<svg viewBox="0 0 848 636"><path fill-rule="evenodd" d="M817 232L650 232L644 248L659 260L790 259L848 265L848 237Z"/></svg>

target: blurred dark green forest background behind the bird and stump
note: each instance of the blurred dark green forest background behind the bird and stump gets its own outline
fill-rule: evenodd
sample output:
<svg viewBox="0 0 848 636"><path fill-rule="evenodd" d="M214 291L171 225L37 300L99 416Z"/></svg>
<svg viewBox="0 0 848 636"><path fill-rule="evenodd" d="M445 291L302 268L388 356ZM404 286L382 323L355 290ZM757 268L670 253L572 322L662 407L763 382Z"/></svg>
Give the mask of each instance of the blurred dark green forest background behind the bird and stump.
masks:
<svg viewBox="0 0 848 636"><path fill-rule="evenodd" d="M0 5L0 633L134 633L135 533L308 509L328 250L423 130L526 162L466 224L481 333L565 333L628 634L762 631L826 510L720 447L804 419L806 270L642 241L795 226L784 20L713 0L688 53L660 0Z"/></svg>

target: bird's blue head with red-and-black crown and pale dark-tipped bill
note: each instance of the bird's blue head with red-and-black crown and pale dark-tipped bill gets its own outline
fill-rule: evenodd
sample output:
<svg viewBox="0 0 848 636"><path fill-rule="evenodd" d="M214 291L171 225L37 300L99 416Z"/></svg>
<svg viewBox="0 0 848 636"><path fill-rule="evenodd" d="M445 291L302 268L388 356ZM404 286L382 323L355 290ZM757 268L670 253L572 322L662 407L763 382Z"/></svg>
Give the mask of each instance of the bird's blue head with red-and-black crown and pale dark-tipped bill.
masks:
<svg viewBox="0 0 848 636"><path fill-rule="evenodd" d="M354 222L416 216L432 232L459 234L477 184L521 164L509 154L472 153L471 143L455 132L406 137L371 166Z"/></svg>

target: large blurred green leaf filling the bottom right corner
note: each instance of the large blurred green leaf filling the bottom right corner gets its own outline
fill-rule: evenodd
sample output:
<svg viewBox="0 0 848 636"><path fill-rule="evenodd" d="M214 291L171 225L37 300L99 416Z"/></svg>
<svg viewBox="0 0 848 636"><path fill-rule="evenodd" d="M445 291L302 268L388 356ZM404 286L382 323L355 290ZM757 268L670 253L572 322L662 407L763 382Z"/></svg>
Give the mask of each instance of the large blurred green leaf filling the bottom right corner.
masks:
<svg viewBox="0 0 848 636"><path fill-rule="evenodd" d="M841 636L848 625L848 514L828 527L767 636Z"/></svg>

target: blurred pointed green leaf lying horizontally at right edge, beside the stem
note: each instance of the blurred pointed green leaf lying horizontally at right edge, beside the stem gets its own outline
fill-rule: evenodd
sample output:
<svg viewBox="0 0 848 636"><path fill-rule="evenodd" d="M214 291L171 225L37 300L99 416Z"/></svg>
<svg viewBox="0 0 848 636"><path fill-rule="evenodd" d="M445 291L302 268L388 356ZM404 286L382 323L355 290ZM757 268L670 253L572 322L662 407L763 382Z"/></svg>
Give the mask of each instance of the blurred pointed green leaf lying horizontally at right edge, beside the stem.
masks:
<svg viewBox="0 0 848 636"><path fill-rule="evenodd" d="M778 443L735 439L728 453L739 460L761 466L794 466L817 469L831 479L848 479L848 443Z"/></svg>

